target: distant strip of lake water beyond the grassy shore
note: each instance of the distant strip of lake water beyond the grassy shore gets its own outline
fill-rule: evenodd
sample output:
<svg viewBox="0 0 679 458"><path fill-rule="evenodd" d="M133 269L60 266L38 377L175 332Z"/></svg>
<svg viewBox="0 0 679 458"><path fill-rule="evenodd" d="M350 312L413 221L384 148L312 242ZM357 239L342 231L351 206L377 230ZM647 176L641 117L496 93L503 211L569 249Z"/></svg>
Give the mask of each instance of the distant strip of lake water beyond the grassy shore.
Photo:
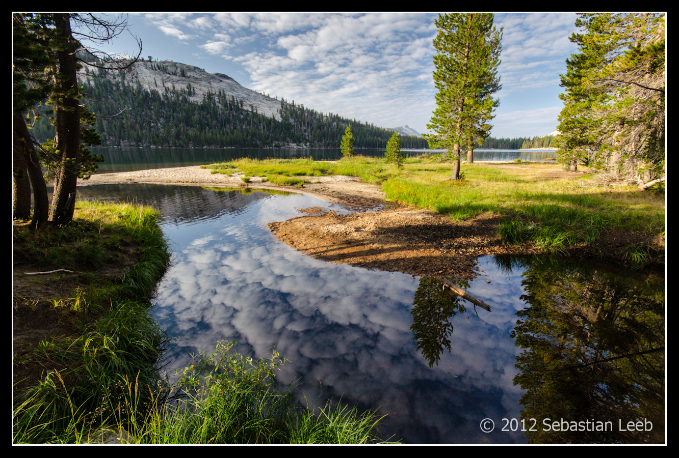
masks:
<svg viewBox="0 0 679 458"><path fill-rule="evenodd" d="M418 155L424 150L401 150L404 154ZM206 165L232 161L241 157L258 159L312 157L316 161L336 161L342 157L337 149L280 149L280 148L94 148L105 161L99 164L98 173L134 171L142 169L164 169L187 165ZM384 156L384 150L356 150L364 156ZM431 150L434 154L441 150ZM466 152L462 154L466 159ZM549 150L475 150L475 161L544 161L553 158Z"/></svg>

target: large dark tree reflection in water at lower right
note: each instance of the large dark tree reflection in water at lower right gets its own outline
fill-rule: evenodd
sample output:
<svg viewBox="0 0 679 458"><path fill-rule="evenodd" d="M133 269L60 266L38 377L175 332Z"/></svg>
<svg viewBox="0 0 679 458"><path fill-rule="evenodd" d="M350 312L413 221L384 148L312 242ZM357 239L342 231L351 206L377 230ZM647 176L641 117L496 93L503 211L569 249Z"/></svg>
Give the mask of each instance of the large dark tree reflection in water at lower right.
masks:
<svg viewBox="0 0 679 458"><path fill-rule="evenodd" d="M526 268L521 298L528 307L517 312L512 333L524 349L514 378L525 390L522 417L526 428L537 421L526 437L534 443L665 442L663 282L549 258L496 259L509 270ZM545 419L579 423L561 423L566 431L555 431ZM644 428L630 429L628 421L643 421Z"/></svg>

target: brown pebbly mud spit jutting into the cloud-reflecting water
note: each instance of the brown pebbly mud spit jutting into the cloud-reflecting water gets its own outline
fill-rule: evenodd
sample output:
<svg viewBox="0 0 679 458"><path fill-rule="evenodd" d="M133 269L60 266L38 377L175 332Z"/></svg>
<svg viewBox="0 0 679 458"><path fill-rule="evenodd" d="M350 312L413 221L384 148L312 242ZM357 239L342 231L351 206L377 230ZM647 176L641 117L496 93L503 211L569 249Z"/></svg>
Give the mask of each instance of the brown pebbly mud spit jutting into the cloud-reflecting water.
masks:
<svg viewBox="0 0 679 458"><path fill-rule="evenodd" d="M497 224L498 217L489 214L453 222L432 211L393 207L352 215L306 215L269 228L287 245L335 264L473 278L478 256L532 251L501 245Z"/></svg>

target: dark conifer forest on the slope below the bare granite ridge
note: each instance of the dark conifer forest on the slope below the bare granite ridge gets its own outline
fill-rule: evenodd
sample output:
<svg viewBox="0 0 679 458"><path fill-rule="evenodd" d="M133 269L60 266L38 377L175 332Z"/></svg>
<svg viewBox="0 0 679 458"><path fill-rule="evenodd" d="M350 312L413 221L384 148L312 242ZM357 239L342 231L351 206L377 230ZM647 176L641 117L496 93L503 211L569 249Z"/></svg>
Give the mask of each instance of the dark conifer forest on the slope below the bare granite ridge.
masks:
<svg viewBox="0 0 679 458"><path fill-rule="evenodd" d="M83 102L97 117L96 131L102 146L339 148L344 129L350 123L356 148L385 148L393 133L285 100L280 100L276 116L270 117L239 99L238 93L234 97L219 86L214 91L203 91L201 98L200 93L196 94L200 81L190 75L194 71L202 72L200 76L207 75L204 70L173 62L175 78L167 81L167 62L143 64L145 79L135 78L141 72L132 72L127 77L124 73L93 77L86 72L83 83L88 98ZM190 68L190 72L185 68ZM158 72L157 77L150 78L155 87L145 87L149 85L149 71ZM54 137L46 119L36 123L34 135L41 141ZM403 136L401 147L426 148L427 143L422 138Z"/></svg>

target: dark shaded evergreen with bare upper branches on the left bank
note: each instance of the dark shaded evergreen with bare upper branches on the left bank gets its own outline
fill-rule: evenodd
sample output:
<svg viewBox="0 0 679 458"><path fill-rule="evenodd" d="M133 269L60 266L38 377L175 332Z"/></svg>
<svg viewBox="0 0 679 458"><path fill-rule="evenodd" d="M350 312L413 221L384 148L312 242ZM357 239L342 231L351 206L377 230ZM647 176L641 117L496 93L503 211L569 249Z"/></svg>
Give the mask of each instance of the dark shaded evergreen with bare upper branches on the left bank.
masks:
<svg viewBox="0 0 679 458"><path fill-rule="evenodd" d="M14 62L14 72L20 75L18 81L17 100L21 103L15 106L16 115L23 115L23 110L29 110L28 102L38 102L48 96L47 103L54 110L52 123L56 130L54 141L47 142L41 147L41 158L48 167L54 171L54 194L52 205L49 208L48 220L55 226L63 226L73 219L75 209L75 196L77 192L77 178L86 178L86 175L96 170L96 162L101 157L94 156L90 150L84 147L86 144L98 144L99 137L92 129L94 116L81 106L83 93L78 85L77 72L81 67L80 62L90 61L90 65L98 68L107 68L91 62L96 60L94 55L83 58L80 53L83 45L76 38L82 36L71 30L71 23L77 22L79 30L87 30L86 37L93 41L109 41L126 28L126 22L108 22L96 18L92 14L71 13L40 13L40 14L14 14L13 28L14 38L18 43L18 49L30 51L32 54L33 67L26 62ZM20 30L25 35L20 39L16 31ZM141 44L140 44L141 53ZM137 56L139 57L139 56ZM84 59L84 60L83 60ZM116 68L129 65L130 60L124 61L110 58L107 64ZM134 62L134 60L132 60ZM39 68L40 67L40 68ZM17 73L18 72L18 73ZM45 81L50 81L45 85ZM23 87L39 89L24 91ZM32 107L31 107L32 108ZM28 144L28 134L20 123L15 121L15 136L23 139ZM24 126L25 127L25 126ZM15 142L16 144L16 142ZM28 148L26 151L29 151ZM31 177L33 180L33 177ZM33 186L36 201L38 203L47 199L46 188ZM40 214L43 214L42 204L39 205ZM42 222L42 221L40 221ZM31 227L35 227L33 223Z"/></svg>

